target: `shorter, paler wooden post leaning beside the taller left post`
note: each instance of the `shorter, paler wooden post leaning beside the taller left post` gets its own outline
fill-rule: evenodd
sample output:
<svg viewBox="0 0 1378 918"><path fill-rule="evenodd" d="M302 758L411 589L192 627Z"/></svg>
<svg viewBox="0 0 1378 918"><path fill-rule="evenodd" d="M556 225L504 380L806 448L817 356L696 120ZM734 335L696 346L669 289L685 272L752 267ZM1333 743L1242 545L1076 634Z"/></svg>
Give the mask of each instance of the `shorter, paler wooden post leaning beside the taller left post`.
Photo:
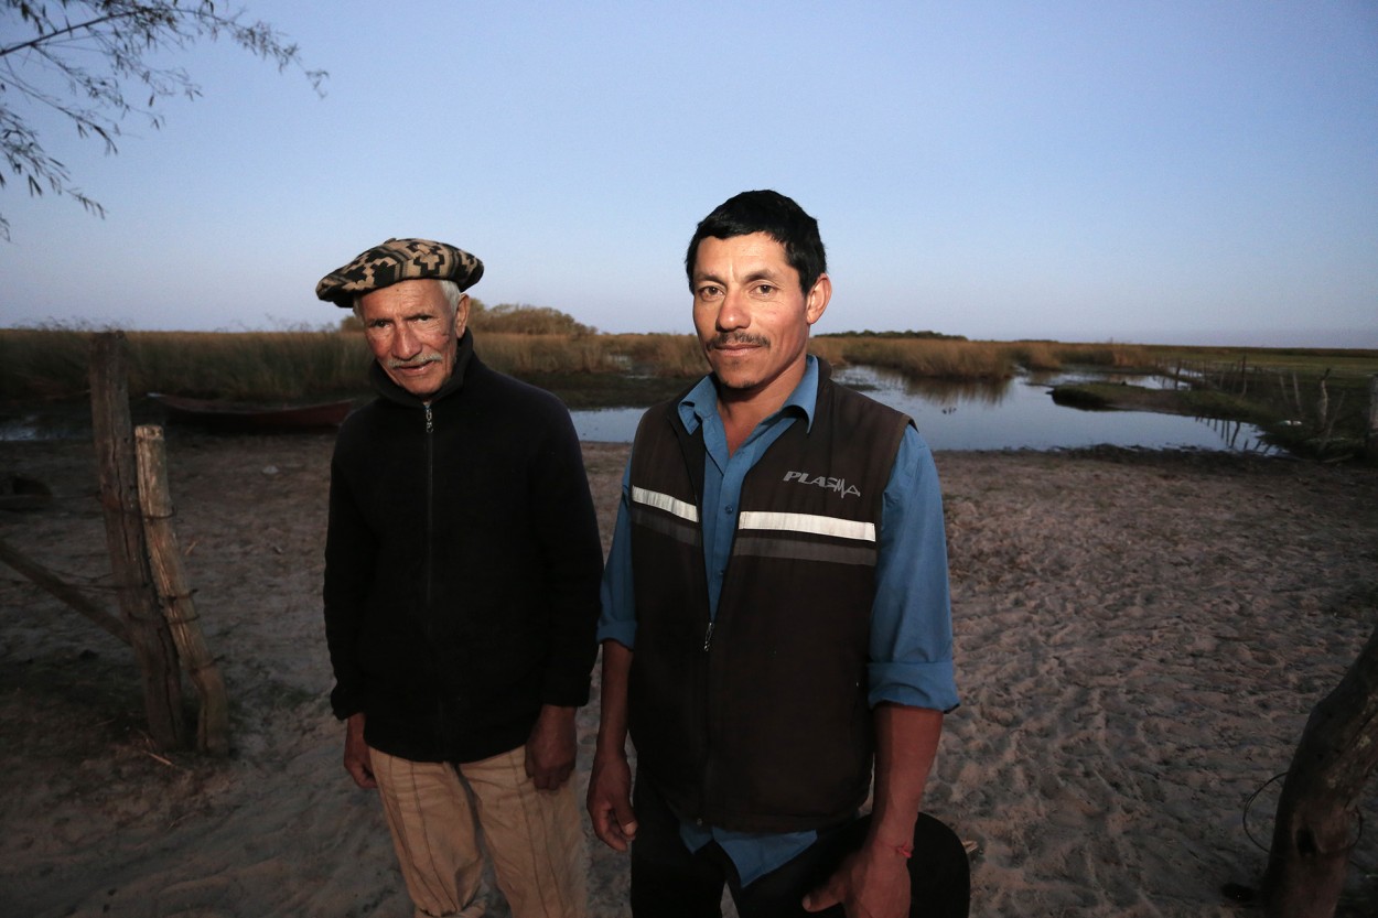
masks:
<svg viewBox="0 0 1378 918"><path fill-rule="evenodd" d="M141 425L134 430L134 441L139 459L139 506L143 509L143 533L149 542L153 580L158 587L163 615L182 656L182 666L201 697L196 747L203 753L225 757L230 754L230 707L225 680L205 646L192 589L182 569L182 551L172 528L176 510L168 491L163 427Z"/></svg>

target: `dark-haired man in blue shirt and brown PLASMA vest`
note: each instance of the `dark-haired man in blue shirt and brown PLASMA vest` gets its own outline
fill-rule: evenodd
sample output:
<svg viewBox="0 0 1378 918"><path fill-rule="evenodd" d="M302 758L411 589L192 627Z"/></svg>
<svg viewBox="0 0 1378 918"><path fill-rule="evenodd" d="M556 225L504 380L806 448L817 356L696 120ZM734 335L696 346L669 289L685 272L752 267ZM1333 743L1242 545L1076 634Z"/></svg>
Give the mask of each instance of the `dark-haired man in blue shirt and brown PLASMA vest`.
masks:
<svg viewBox="0 0 1378 918"><path fill-rule="evenodd" d="M685 269L712 372L633 445L594 831L631 846L638 918L715 917L723 885L758 918L965 915L966 853L921 812L958 700L933 456L809 356L832 281L798 204L728 200Z"/></svg>

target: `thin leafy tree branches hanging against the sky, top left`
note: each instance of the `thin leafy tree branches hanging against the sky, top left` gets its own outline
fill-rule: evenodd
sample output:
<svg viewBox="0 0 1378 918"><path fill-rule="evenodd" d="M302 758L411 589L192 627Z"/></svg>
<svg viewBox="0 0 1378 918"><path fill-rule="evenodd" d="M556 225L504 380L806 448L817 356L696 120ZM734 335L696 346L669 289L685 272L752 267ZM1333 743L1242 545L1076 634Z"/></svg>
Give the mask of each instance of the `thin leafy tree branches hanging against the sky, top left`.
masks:
<svg viewBox="0 0 1378 918"><path fill-rule="evenodd" d="M18 22L15 22L18 19ZM212 0L181 6L178 0L0 0L0 23L7 39L0 47L0 187L6 172L21 179L30 194L70 197L87 212L105 208L73 185L68 167L44 146L29 117L11 98L39 110L52 110L76 128L77 136L99 139L106 153L117 153L120 123L138 116L152 128L163 127L154 108L163 98L194 99L200 87L181 68L150 63L160 52L185 50L200 39L227 37L249 54L302 69L316 92L327 73L302 66L300 52L273 26L245 22L243 12L225 14ZM147 92L146 105L139 101ZM132 99L132 101L131 101ZM10 238L10 222L0 215L0 237Z"/></svg>

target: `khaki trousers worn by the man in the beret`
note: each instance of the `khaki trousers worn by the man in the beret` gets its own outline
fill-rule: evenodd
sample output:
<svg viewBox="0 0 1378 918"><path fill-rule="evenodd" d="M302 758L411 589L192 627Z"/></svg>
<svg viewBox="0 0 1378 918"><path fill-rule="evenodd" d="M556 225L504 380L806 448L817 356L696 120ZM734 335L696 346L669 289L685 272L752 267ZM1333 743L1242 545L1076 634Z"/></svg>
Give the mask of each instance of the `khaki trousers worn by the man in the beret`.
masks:
<svg viewBox="0 0 1378 918"><path fill-rule="evenodd" d="M536 790L521 746L457 768L369 754L416 918L484 914L484 848L513 918L584 918L587 866L573 780Z"/></svg>

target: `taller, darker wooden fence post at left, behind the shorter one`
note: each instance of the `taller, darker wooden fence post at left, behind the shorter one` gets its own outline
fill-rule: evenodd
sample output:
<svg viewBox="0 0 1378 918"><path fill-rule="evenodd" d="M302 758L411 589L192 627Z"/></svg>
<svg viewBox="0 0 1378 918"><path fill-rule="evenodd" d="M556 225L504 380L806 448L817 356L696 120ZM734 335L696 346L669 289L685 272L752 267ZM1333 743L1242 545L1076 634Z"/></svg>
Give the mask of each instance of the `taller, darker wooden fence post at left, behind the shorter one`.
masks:
<svg viewBox="0 0 1378 918"><path fill-rule="evenodd" d="M149 735L158 748L181 748L186 743L182 680L145 547L123 332L99 332L91 342L91 426L101 471L105 540L120 613L143 673Z"/></svg>

